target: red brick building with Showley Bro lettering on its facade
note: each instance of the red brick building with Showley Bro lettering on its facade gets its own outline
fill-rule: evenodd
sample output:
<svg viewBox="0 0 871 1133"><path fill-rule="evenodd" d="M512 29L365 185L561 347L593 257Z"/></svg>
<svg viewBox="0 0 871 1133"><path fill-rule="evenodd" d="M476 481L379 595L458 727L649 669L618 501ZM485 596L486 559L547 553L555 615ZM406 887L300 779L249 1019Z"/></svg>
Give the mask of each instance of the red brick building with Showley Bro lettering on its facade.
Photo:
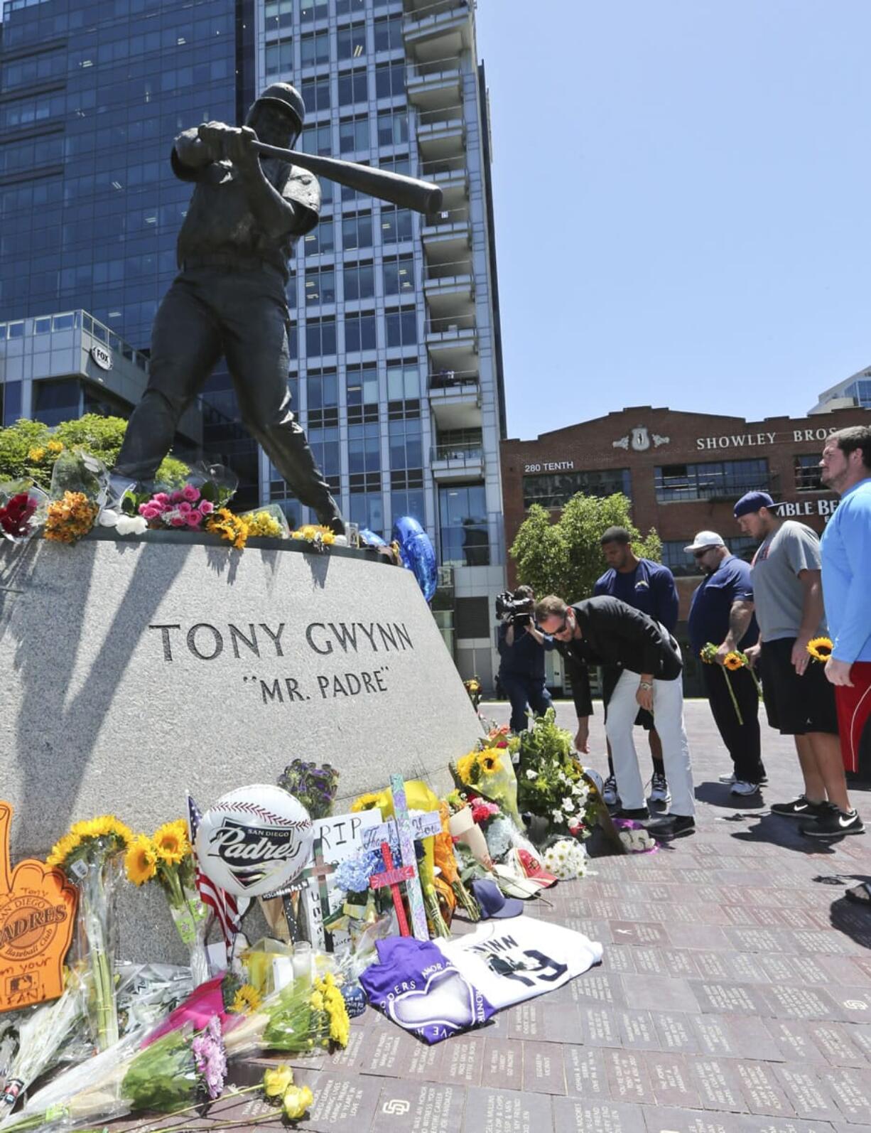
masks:
<svg viewBox="0 0 871 1133"><path fill-rule="evenodd" d="M699 579L683 547L708 529L735 554L751 554L752 540L741 537L732 508L754 488L770 492L784 503L784 513L821 531L837 496L820 485L817 463L828 434L847 425L871 425L871 410L752 421L639 406L533 441L503 441L505 546L511 547L532 503L556 516L577 492L624 492L635 526L641 531L655 527L663 540L663 561L677 578L683 623ZM518 581L509 559L509 585ZM688 681L689 688L694 683Z"/></svg>

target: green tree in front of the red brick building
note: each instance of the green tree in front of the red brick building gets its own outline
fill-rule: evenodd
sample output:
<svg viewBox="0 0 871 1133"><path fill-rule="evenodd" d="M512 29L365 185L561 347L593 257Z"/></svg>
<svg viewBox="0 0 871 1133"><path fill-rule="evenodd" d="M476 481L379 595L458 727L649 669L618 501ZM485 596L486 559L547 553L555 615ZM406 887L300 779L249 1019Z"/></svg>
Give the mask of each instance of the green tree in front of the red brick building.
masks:
<svg viewBox="0 0 871 1133"><path fill-rule="evenodd" d="M622 493L601 499L579 493L566 503L560 519L532 504L520 525L509 554L516 562L519 582L531 586L541 598L558 594L579 602L592 594L596 579L607 570L599 539L608 527L625 527L639 559L659 562L663 544L651 527L647 536L632 522L632 504Z"/></svg>

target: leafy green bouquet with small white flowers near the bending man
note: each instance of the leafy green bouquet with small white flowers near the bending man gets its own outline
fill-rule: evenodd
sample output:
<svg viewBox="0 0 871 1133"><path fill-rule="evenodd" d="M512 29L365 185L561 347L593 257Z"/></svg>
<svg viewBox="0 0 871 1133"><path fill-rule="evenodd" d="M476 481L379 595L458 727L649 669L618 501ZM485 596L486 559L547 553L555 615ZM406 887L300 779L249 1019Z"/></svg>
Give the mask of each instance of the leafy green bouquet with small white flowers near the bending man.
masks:
<svg viewBox="0 0 871 1133"><path fill-rule="evenodd" d="M548 708L521 736L518 793L523 810L583 838L596 821L598 796L573 748L571 733L557 727L556 713Z"/></svg>

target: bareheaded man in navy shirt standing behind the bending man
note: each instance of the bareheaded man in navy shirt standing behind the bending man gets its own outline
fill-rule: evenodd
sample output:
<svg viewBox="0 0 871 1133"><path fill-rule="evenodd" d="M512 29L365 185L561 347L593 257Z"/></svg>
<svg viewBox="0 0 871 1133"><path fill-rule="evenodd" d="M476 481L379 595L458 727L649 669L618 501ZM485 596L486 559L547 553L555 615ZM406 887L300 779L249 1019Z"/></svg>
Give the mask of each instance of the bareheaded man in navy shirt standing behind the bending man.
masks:
<svg viewBox="0 0 871 1133"><path fill-rule="evenodd" d="M674 633L677 624L677 587L674 576L667 566L655 563L650 559L638 559L632 551L632 536L625 527L609 527L599 539L601 552L609 569L605 571L592 588L594 597L600 594L620 598L626 605L640 610L642 614L660 622ZM621 671L606 665L601 673L601 699L607 716L607 705L610 695L620 680ZM654 775L650 780L649 802L668 806L672 795L665 777L663 765L663 744L654 726L654 717L643 708L635 718L637 724L647 729L650 741L650 758L654 763ZM618 784L614 776L614 761L608 748L608 778L603 785L603 799L608 806L620 801ZM630 815L630 818L639 817ZM642 816L641 816L642 817Z"/></svg>

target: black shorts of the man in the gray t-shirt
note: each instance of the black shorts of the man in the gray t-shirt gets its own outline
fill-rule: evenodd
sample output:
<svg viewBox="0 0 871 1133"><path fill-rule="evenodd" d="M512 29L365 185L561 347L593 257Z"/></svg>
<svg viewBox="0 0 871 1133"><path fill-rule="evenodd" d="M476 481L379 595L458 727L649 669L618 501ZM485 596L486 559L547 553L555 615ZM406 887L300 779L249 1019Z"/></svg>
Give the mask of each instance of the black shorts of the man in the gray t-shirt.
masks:
<svg viewBox="0 0 871 1133"><path fill-rule="evenodd" d="M789 659L794 644L795 638L766 641L759 655L768 723L780 735L804 735L805 732L837 735L835 688L818 661L811 661L804 675L799 676Z"/></svg>

